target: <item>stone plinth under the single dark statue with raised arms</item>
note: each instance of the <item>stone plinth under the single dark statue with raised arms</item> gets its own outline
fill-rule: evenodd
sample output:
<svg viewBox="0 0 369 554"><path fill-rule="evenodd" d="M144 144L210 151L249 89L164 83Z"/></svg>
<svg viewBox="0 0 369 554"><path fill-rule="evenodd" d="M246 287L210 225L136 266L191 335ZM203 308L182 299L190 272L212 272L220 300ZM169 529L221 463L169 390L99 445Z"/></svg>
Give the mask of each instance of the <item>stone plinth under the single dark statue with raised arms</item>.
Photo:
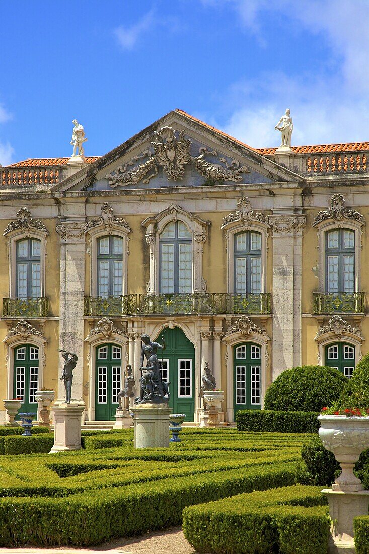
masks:
<svg viewBox="0 0 369 554"><path fill-rule="evenodd" d="M50 450L50 454L81 449L81 417L84 409L84 402L71 402L70 404L55 402L53 406L54 446Z"/></svg>

